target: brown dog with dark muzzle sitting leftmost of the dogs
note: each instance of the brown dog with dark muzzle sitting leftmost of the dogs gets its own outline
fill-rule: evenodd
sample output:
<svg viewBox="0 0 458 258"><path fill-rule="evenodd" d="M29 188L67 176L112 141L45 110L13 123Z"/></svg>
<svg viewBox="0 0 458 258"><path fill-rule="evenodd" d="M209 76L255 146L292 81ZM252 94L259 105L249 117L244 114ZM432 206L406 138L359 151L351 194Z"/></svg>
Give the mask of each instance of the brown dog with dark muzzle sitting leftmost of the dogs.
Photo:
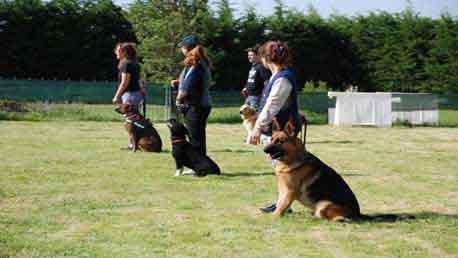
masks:
<svg viewBox="0 0 458 258"><path fill-rule="evenodd" d="M124 127L129 134L133 151L161 152L162 140L151 121L138 112L133 105L121 104L115 109L126 118Z"/></svg>

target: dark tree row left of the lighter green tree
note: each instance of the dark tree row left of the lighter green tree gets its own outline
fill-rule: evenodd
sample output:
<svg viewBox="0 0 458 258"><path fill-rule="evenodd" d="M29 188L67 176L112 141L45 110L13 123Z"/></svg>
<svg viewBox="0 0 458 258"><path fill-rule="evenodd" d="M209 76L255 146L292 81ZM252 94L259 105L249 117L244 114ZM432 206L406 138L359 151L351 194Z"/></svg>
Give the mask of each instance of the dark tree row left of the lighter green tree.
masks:
<svg viewBox="0 0 458 258"><path fill-rule="evenodd" d="M0 0L0 77L114 80L118 40L136 40L111 0Z"/></svg>

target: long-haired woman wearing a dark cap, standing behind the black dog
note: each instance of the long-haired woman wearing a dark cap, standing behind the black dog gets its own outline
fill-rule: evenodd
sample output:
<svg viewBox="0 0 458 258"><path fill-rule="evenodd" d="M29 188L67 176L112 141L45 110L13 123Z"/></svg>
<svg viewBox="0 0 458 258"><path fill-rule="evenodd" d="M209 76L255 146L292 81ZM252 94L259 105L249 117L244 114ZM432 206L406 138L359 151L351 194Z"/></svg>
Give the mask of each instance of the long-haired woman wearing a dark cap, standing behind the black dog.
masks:
<svg viewBox="0 0 458 258"><path fill-rule="evenodd" d="M186 56L180 78L172 81L178 85L177 112L184 116L191 144L202 154L207 154L206 127L211 111L209 94L211 62L197 37L187 36L178 45Z"/></svg>

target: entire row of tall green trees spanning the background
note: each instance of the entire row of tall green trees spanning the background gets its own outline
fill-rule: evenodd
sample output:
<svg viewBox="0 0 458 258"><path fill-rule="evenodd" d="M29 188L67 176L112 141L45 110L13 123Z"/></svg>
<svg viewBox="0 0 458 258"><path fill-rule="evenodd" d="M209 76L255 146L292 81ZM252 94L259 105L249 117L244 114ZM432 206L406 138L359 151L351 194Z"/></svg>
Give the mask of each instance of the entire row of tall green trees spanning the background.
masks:
<svg viewBox="0 0 458 258"><path fill-rule="evenodd" d="M216 89L242 88L245 49L275 39L292 48L300 85L458 92L458 21L448 14L407 8L324 19L281 0L268 16L251 7L235 17L229 0L135 0L124 10L111 0L3 0L0 14L0 73L8 77L113 80L113 46L128 40L138 42L144 79L164 83L181 69L177 43L196 34L215 64Z"/></svg>

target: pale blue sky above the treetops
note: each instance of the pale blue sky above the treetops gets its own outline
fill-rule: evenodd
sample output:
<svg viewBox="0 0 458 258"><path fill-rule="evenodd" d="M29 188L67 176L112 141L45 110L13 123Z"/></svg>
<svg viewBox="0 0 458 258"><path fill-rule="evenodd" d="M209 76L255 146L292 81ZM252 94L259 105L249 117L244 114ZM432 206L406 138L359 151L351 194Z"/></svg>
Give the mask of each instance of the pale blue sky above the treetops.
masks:
<svg viewBox="0 0 458 258"><path fill-rule="evenodd" d="M119 5L128 5L133 0L114 0ZM212 2L212 0L210 0ZM273 12L274 0L231 0L231 6L236 10L244 10L247 4L256 7L258 14L269 15ZM440 17L441 13L448 12L458 17L458 0L411 0L416 12L422 16ZM355 16L368 14L371 11L401 12L407 6L406 0L283 0L288 7L306 11L313 5L323 17L330 14ZM236 13L237 14L237 13Z"/></svg>

